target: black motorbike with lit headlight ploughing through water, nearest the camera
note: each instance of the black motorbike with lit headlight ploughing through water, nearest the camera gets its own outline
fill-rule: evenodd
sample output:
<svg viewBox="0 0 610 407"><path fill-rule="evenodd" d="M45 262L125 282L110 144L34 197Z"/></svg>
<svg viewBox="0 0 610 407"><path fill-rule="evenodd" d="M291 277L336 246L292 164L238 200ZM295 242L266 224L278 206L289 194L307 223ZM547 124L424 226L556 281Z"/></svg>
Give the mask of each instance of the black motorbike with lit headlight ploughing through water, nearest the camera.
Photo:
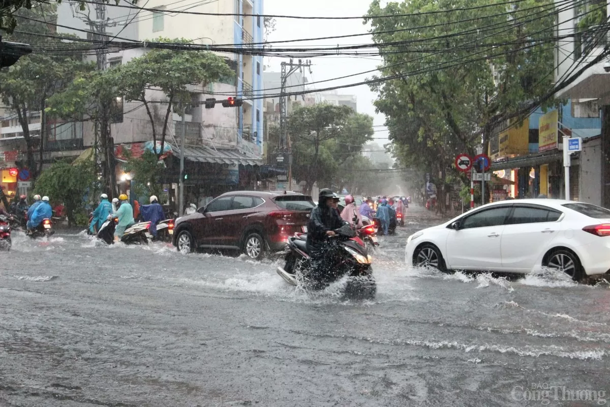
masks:
<svg viewBox="0 0 610 407"><path fill-rule="evenodd" d="M370 226L365 226L368 228ZM304 233L295 233L289 237L284 268L278 267L278 274L292 286L298 281L307 291L323 290L331 283L348 275L348 281L343 288L346 299L370 300L375 298L377 286L373 277L371 263L373 258L368 254L365 243L357 237L356 231L349 225L335 231L336 236L328 239L327 268L324 275L319 275L312 267L311 258L307 253Z"/></svg>

